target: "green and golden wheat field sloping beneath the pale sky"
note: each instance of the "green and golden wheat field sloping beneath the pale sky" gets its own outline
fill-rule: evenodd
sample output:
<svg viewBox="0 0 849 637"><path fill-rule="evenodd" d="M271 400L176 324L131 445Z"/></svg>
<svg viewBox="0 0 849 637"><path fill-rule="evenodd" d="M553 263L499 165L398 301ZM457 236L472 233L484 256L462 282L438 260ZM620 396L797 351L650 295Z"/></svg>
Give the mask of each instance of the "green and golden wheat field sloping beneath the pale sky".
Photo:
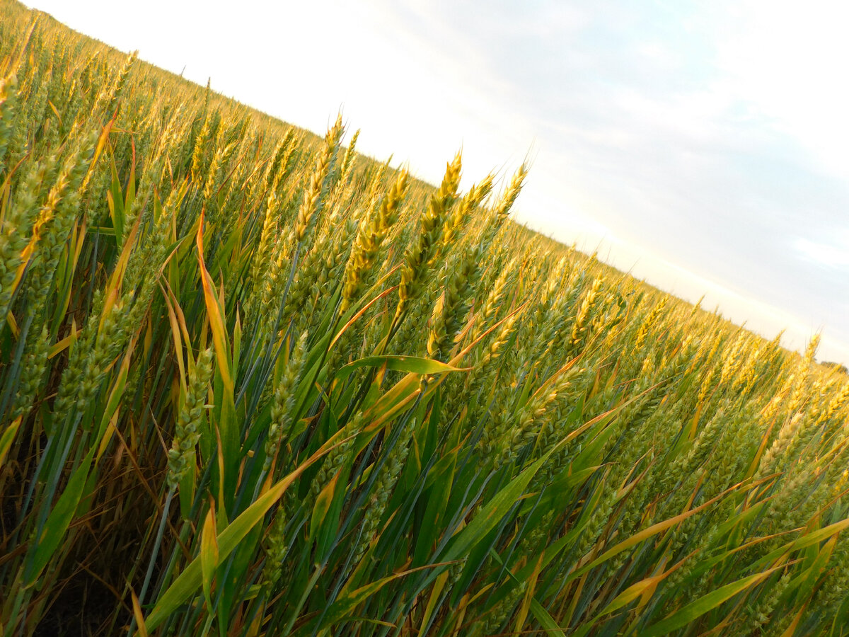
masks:
<svg viewBox="0 0 849 637"><path fill-rule="evenodd" d="M357 135L0 0L3 636L849 634L817 338Z"/></svg>

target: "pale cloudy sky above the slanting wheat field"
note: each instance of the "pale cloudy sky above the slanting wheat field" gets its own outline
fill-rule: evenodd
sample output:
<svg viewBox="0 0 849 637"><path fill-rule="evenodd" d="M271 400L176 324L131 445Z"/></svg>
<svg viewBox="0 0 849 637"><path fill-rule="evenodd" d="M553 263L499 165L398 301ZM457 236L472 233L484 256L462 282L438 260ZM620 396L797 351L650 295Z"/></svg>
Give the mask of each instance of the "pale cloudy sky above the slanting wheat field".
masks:
<svg viewBox="0 0 849 637"><path fill-rule="evenodd" d="M432 183L527 159L521 223L849 364L849 5L25 3Z"/></svg>

